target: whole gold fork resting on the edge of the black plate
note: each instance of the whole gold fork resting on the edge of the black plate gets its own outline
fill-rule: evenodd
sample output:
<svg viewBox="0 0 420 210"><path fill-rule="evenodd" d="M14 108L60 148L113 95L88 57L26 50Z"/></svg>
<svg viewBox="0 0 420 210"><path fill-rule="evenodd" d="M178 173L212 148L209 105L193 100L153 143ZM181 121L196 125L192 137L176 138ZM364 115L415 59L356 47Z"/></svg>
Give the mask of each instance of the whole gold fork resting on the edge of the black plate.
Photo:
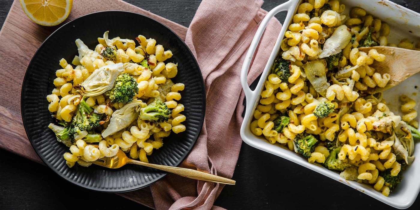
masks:
<svg viewBox="0 0 420 210"><path fill-rule="evenodd" d="M97 145L94 145L97 147ZM126 165L127 163L133 163L137 165L143 165L150 168L156 168L162 171L175 173L179 176L184 176L188 178L194 178L198 180L203 181L212 181L216 183L221 184L235 184L234 180L224 178L221 176L216 176L210 173L205 173L202 171L197 171L189 168L178 168L178 167L172 167L167 165L157 165L152 163L144 163L138 160L133 160L127 157L126 153L124 153L122 150L118 150L117 154L113 157L103 157L96 161L93 161L92 163L100 166L104 166L107 168L121 168L123 165Z"/></svg>

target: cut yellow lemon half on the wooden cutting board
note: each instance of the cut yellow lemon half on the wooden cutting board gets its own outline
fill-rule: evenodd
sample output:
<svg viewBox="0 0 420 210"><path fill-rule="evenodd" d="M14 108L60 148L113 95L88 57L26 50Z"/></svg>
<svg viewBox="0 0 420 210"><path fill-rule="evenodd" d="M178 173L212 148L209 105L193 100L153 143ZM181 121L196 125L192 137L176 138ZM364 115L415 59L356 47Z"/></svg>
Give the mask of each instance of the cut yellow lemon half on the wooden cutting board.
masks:
<svg viewBox="0 0 420 210"><path fill-rule="evenodd" d="M66 20L73 0L20 0L22 9L35 23L55 26Z"/></svg>

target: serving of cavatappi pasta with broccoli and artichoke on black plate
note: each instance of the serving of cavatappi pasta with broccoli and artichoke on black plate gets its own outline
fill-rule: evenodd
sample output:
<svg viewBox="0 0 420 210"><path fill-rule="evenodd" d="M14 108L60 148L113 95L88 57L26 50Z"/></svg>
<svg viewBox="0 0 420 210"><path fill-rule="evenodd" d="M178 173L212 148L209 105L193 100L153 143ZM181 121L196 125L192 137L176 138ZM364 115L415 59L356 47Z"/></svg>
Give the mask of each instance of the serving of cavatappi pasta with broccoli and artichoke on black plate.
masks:
<svg viewBox="0 0 420 210"><path fill-rule="evenodd" d="M171 50L155 39L98 38L91 50L76 39L79 55L71 64L60 60L55 89L47 95L48 110L60 126L50 123L59 142L69 147L63 157L69 167L89 166L119 149L148 162L147 155L163 146L171 132L185 131L181 91L171 80L176 63L165 61Z"/></svg>

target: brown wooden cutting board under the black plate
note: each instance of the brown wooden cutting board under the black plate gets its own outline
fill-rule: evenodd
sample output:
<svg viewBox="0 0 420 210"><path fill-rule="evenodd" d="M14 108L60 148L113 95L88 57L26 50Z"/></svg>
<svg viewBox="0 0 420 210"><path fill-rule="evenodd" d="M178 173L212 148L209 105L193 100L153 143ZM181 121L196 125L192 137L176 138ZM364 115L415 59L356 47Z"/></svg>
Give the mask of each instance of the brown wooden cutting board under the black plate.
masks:
<svg viewBox="0 0 420 210"><path fill-rule="evenodd" d="M106 10L131 11L149 16L185 39L186 27L122 0L76 0L64 23L85 14ZM21 87L26 68L35 51L64 23L53 27L35 24L22 11L19 1L15 0L0 31L0 147L41 164L42 161L32 148L22 124ZM149 187L118 195L154 208Z"/></svg>

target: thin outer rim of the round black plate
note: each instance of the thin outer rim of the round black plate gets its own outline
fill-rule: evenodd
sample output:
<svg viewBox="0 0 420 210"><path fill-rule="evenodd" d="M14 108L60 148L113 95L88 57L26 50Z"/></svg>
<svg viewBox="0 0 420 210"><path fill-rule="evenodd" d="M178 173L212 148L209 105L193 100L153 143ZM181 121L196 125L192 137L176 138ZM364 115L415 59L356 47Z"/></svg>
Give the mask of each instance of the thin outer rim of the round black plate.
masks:
<svg viewBox="0 0 420 210"><path fill-rule="evenodd" d="M204 78L203 78L203 76L202 76L202 71L201 71L201 68L200 68L200 66L199 66L199 64L198 64L198 62L197 62L197 58L195 58L195 56L194 56L194 54L192 53L192 51L191 51L191 49L186 45L186 43L185 43L185 41L183 40L183 39L181 39L181 37L179 37L179 35L178 34L176 34L171 28L169 28L168 26L166 26L165 24L163 24L162 22L160 22L160 21L157 21L155 18L152 18L152 17L149 17L149 16L146 16L146 15L143 15L143 14L140 14L140 13L135 13L135 12L131 12L131 11L123 11L123 10L106 10L106 11L97 11L97 12L93 12L93 13L88 13L88 14L85 14L85 15L82 15L82 16L79 16L79 17L77 17L77 18L74 18L73 20L71 20L71 21L68 21L67 23L65 23L65 24L63 24L62 26L60 26L58 29L55 29L55 31L53 32L53 33L51 33L42 43L41 43L41 45L39 45L39 47L38 47L38 49L35 51L35 53L34 53L34 55L32 55L32 58L31 58L31 60L29 61L29 63L28 63L28 66L26 67L26 71L25 71L25 75L24 75L24 79L22 80L22 85L21 85L21 97L20 97L20 99L21 99L21 102L20 102L20 105L21 105L21 118L22 118L22 124L23 124L23 126L24 126L24 130L25 130L25 134L26 134L26 137L28 138L28 140L29 140L29 142L31 143L31 146L32 146L32 148L34 149L34 151L36 152L36 154L38 155L38 157L42 160L42 163L44 163L46 166L47 166L47 168L49 168L51 171L53 171L55 174L57 174L60 178L63 178L64 180L66 180L66 181L68 181L68 182L70 182L71 184L74 184L74 185L76 185L76 186L79 186L79 187L83 187L84 189L89 189L89 190L92 190L92 191L95 191L95 192L105 192L105 193L122 193L122 192L130 192L130 191L134 191L134 190L138 190L138 189L142 189L142 188L144 188L144 187L147 187L147 186L150 186L151 184L154 184L155 182L157 182L157 181L159 181L160 179L162 179L163 177L165 177L166 175L168 175L168 172L164 172L164 171L161 171L163 174L162 175L160 175L160 177L157 177L156 178L156 180L154 180L154 181L151 181L150 183L148 183L148 184L144 184L143 186L136 186L136 187L128 187L127 189L124 189L124 190L110 190L110 189L104 189L104 190L99 190L99 189L96 189L96 188L92 188L92 187L90 187L90 186L87 186L87 185L84 185L84 184L81 184L81 183L78 183L78 182L74 182L74 181L71 181L70 179L68 179L68 178L66 178L66 177L64 177L64 176L62 176L60 173L57 173L54 169L53 169L53 167L52 167L52 165L51 164L49 164L49 163L47 163L47 161L45 160L45 158L44 157L42 157L41 155L39 155L39 152L37 151L37 149L35 149L35 147L34 147L34 142L33 142L33 139L32 138L30 138L29 137L29 135L28 135L28 129L27 129L27 124L25 123L25 119L24 119L24 109L23 109L23 95L24 95L24 84L26 83L26 80L27 80L27 77L28 77L28 71L29 71L29 66L31 66L31 64L32 64L32 62L34 61L34 57L35 57L35 55L37 55L37 53L38 53L38 51L41 49L41 47L42 46L44 46L45 45L45 42L47 42L47 40L48 39L50 39L50 37L52 37L56 32L58 32L60 29L62 29L63 27L65 27L65 26L67 26L68 24L71 24L73 21L75 21L75 20L77 20L77 19L79 19L79 18L85 18L86 16L90 16L90 15L94 15L94 14L97 14L97 13L114 13L114 12L120 12L120 13L131 13L131 14L134 14L134 15L139 15L139 16L143 16L143 17L145 17L145 18L149 18L150 20L152 20L152 21L156 21L158 24L161 24L163 27L165 27L165 28L167 28L170 32L172 32L173 34L175 34L175 37L177 38L177 39L179 39L179 40L181 40L181 42L185 45L185 47L186 47L186 49L188 50L188 52L192 55L192 62L194 62L196 65L197 65L197 68L198 68L198 70L199 70L199 76L201 77L201 81L202 81L202 92L204 93L203 94L203 97L202 97L202 101L203 101L203 108L202 108L202 111L201 111L201 113L202 113L202 118L200 119L200 121L199 121L199 128L200 128L200 130L199 130L199 132L197 132L197 135L196 136L194 136L194 143L191 145L191 148L189 148L189 150L188 150L188 152L186 152L186 154L184 155L184 157L182 157L180 160L180 162L176 165L176 167L178 167L179 165L181 165L181 163L182 162L184 162L184 160L186 159L186 157L188 157L188 155L191 153L191 151L192 151L192 149L194 148L194 146L195 146L195 144L197 143L197 140L198 140L198 137L200 136L200 134L201 134L201 132L202 132L202 128L203 128L203 124L204 124L204 121L205 121L205 110L206 110L206 91L205 91L205 82L204 82Z"/></svg>

